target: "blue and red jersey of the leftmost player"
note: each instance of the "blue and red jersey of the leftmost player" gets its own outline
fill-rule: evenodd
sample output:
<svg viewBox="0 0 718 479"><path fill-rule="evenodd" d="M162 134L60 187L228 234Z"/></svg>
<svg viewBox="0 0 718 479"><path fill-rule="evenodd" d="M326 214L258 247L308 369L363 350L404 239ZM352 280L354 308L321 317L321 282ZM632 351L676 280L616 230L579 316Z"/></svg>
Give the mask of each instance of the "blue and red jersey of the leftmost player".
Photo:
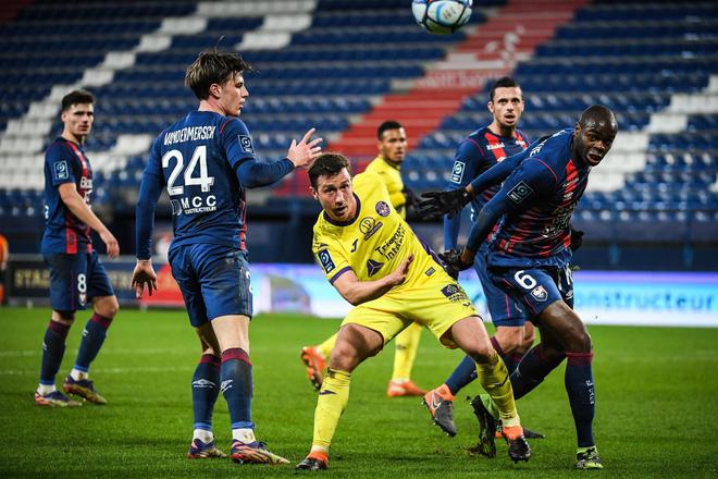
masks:
<svg viewBox="0 0 718 479"><path fill-rule="evenodd" d="M58 137L45 153L45 233L42 253L91 253L90 229L62 202L58 188L74 183L79 196L90 205L92 168L83 147Z"/></svg>

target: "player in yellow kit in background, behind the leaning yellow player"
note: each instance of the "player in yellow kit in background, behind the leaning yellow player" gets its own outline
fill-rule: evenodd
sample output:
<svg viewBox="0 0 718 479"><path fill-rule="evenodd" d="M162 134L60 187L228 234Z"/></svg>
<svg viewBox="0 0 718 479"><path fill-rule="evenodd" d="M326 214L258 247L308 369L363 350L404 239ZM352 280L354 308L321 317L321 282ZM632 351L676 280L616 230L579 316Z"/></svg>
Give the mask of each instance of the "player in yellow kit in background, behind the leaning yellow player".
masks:
<svg viewBox="0 0 718 479"><path fill-rule="evenodd" d="M379 125L376 137L379 138L379 156L367 165L366 171L376 173L381 177L388 191L391 205L401 218L406 219L407 208L417 201L413 193L404 186L400 173L401 162L407 152L407 134L400 123L387 120ZM394 371L386 388L387 396L423 396L426 393L411 380L411 370L420 340L420 324L411 324L396 336ZM333 334L317 346L301 348L300 357L307 366L307 377L317 391L322 386L326 358L335 343L336 334Z"/></svg>

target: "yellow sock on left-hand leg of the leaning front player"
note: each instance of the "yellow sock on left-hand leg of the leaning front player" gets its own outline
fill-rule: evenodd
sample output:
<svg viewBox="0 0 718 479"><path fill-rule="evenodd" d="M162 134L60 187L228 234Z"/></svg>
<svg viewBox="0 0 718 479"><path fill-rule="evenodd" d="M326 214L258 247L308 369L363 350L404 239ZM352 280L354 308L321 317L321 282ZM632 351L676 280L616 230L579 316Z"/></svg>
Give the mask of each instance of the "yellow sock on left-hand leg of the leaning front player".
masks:
<svg viewBox="0 0 718 479"><path fill-rule="evenodd" d="M312 451L329 451L342 413L349 402L351 373L329 369L322 383L314 409L314 439Z"/></svg>

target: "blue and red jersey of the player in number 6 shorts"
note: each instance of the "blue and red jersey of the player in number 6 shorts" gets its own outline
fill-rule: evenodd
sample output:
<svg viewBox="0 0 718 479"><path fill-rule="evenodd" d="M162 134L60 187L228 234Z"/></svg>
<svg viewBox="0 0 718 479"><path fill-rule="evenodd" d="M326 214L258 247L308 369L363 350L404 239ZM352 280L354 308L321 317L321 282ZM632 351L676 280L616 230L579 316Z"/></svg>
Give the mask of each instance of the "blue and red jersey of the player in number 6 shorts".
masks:
<svg viewBox="0 0 718 479"><path fill-rule="evenodd" d="M532 147L487 208L500 211L490 266L566 266L571 259L571 214L591 167L573 158L573 128Z"/></svg>

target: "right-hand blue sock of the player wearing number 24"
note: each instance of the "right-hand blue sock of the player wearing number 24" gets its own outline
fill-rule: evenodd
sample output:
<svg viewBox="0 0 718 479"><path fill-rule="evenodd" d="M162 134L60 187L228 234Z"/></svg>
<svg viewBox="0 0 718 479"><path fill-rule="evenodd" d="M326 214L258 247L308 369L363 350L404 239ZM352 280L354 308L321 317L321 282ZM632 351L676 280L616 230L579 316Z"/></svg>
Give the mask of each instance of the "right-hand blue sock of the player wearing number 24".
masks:
<svg viewBox="0 0 718 479"><path fill-rule="evenodd" d="M251 363L240 347L222 352L222 394L230 408L232 429L253 429L251 421Z"/></svg>

